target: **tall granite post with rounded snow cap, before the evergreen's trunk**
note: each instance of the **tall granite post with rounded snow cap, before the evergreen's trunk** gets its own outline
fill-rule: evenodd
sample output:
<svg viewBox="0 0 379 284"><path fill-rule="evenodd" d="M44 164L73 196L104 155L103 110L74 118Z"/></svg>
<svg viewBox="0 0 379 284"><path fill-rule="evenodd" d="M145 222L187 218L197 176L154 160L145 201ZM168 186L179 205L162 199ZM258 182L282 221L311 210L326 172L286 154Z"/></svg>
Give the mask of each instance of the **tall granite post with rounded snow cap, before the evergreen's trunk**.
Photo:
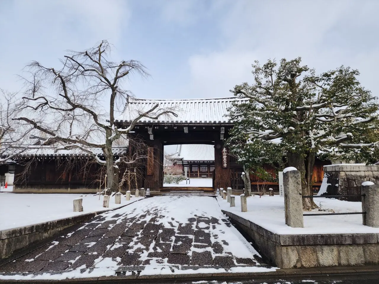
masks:
<svg viewBox="0 0 379 284"><path fill-rule="evenodd" d="M288 167L283 170L283 187L286 225L292 228L304 228L301 176L296 168Z"/></svg>

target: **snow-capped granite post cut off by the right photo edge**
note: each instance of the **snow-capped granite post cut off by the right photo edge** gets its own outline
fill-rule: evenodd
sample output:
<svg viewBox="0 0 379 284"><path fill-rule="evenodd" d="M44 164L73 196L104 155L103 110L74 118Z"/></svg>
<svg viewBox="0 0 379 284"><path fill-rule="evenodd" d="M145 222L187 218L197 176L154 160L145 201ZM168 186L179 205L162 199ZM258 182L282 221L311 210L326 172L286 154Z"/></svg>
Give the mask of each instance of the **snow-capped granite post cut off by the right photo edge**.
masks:
<svg viewBox="0 0 379 284"><path fill-rule="evenodd" d="M379 186L371 181L362 183L363 225L379 228Z"/></svg>

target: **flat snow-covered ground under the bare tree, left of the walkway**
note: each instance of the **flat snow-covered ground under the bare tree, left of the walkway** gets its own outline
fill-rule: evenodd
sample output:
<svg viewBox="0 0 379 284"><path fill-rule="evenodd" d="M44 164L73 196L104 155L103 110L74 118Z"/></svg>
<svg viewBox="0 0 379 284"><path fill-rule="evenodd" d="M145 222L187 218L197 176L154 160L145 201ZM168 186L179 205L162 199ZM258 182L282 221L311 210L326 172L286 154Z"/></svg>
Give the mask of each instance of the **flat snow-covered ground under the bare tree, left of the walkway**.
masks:
<svg viewBox="0 0 379 284"><path fill-rule="evenodd" d="M73 212L72 201L83 198L83 212ZM110 197L109 209L117 208L143 197L130 201L121 197L121 204L114 203ZM49 194L49 193L0 193L0 231L42 222L58 220L91 212L103 211L103 196L93 194Z"/></svg>

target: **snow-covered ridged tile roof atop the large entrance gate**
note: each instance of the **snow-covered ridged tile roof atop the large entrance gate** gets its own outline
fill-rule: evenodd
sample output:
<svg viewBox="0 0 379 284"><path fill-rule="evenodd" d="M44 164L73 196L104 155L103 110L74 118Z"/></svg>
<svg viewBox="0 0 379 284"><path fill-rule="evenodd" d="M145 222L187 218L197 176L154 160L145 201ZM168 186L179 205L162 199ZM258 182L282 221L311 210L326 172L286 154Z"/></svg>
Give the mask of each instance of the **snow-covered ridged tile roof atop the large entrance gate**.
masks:
<svg viewBox="0 0 379 284"><path fill-rule="evenodd" d="M202 98L202 99L130 99L125 104L124 112L117 118L116 122L130 122L138 114L149 111L158 104L157 109L150 114L155 116L162 110L171 110L178 116L161 115L158 119L142 118L139 123L183 123L183 124L227 124L230 123L227 109L232 106L232 102L241 103L247 101L246 98Z"/></svg>

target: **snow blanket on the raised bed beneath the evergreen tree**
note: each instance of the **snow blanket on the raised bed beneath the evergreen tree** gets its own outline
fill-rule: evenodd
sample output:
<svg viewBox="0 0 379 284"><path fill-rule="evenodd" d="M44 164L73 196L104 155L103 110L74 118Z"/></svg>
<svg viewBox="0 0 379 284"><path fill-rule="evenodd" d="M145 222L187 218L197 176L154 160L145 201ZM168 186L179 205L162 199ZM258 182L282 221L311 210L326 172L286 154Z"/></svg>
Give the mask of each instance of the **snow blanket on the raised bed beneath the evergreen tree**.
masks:
<svg viewBox="0 0 379 284"><path fill-rule="evenodd" d="M341 233L379 233L379 228L362 225L362 215L321 215L304 216L304 228L291 228L285 224L284 198L279 195L247 198L247 211L241 212L241 200L235 197L235 207L217 197L221 209L251 220L276 234L341 234ZM323 210L310 213L362 212L361 202L341 201L334 198L315 198L315 203ZM304 212L305 214L307 212Z"/></svg>

